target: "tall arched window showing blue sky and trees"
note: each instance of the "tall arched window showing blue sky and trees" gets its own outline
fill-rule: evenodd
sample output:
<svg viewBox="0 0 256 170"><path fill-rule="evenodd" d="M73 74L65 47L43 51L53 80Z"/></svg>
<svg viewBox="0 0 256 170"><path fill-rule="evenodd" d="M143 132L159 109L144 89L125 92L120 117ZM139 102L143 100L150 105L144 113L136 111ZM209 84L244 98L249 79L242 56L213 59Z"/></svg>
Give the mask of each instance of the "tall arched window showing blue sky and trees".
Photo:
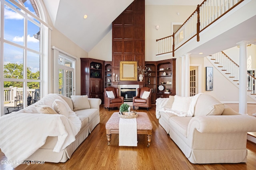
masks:
<svg viewBox="0 0 256 170"><path fill-rule="evenodd" d="M47 93L49 26L41 0L0 0L0 106L28 106ZM50 28L51 29L51 28ZM4 107L2 107L4 106Z"/></svg>

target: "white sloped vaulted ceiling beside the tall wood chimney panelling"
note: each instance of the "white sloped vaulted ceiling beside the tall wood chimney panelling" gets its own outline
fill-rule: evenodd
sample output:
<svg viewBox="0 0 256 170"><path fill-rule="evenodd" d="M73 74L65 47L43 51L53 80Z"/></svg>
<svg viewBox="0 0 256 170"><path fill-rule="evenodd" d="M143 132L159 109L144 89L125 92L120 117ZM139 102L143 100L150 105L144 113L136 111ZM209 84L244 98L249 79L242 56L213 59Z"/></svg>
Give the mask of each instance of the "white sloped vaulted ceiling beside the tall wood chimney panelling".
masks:
<svg viewBox="0 0 256 170"><path fill-rule="evenodd" d="M43 0L56 29L89 52L133 0ZM145 5L193 5L203 0L145 0ZM88 17L84 19L84 15Z"/></svg>

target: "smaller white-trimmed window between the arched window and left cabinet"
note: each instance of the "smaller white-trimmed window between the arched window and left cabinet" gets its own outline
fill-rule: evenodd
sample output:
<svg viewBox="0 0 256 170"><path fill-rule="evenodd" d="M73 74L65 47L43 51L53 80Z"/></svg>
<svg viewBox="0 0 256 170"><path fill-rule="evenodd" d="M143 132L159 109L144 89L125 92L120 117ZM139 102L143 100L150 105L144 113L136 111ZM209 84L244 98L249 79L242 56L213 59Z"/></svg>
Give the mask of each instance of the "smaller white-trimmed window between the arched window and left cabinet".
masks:
<svg viewBox="0 0 256 170"><path fill-rule="evenodd" d="M52 47L54 53L54 93L68 98L75 95L75 64L76 57Z"/></svg>

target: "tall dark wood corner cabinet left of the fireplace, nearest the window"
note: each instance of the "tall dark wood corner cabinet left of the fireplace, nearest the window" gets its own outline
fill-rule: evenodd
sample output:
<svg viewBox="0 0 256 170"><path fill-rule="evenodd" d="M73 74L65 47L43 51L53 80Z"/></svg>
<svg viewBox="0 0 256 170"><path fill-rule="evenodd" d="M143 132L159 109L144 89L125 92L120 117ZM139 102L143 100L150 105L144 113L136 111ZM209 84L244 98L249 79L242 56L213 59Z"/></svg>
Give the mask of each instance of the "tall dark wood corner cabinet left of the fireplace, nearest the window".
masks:
<svg viewBox="0 0 256 170"><path fill-rule="evenodd" d="M81 95L100 98L103 104L104 61L81 58Z"/></svg>

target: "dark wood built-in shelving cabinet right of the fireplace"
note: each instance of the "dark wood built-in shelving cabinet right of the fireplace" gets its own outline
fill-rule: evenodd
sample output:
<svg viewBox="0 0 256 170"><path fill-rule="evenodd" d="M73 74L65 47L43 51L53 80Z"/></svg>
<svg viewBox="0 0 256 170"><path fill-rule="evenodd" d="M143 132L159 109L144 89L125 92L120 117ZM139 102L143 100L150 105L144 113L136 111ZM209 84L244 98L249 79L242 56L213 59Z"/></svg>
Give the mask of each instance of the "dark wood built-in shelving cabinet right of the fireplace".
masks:
<svg viewBox="0 0 256 170"><path fill-rule="evenodd" d="M145 86L153 89L152 104L156 103L157 98L176 94L176 59L146 61L145 65L150 68L144 81Z"/></svg>

